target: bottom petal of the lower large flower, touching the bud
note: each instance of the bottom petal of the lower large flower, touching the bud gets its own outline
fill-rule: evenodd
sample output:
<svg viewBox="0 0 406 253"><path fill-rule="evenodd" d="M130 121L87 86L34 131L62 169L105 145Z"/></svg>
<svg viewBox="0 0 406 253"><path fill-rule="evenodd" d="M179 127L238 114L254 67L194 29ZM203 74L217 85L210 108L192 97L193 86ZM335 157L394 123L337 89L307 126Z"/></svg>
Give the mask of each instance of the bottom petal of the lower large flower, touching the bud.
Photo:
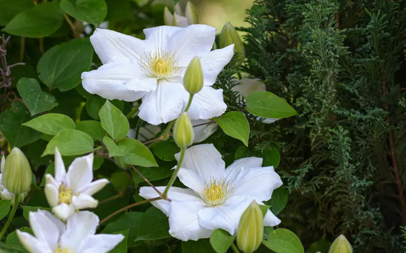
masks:
<svg viewBox="0 0 406 253"><path fill-rule="evenodd" d="M197 214L199 224L210 230L221 228L232 235L252 200L252 198L233 196L221 205L202 209Z"/></svg>

